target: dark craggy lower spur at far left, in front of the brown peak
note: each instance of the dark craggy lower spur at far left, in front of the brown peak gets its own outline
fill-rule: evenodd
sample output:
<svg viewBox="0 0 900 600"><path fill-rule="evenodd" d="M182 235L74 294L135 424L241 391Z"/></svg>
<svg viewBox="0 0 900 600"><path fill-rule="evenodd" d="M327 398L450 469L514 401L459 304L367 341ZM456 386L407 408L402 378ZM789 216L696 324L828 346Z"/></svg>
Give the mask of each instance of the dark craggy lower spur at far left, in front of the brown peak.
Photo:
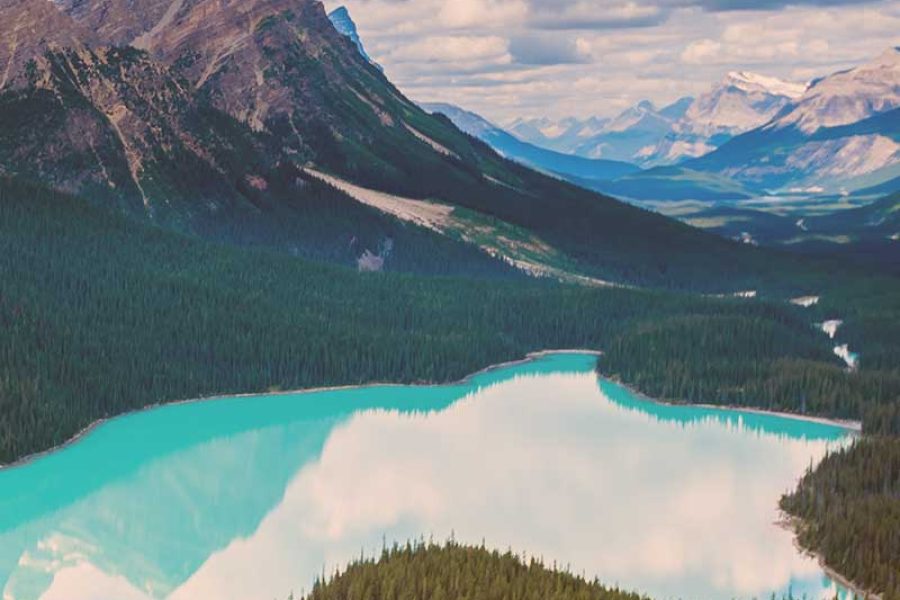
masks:
<svg viewBox="0 0 900 600"><path fill-rule="evenodd" d="M0 142L12 140L0 143L6 168L166 220L240 200L233 165L252 166L253 140L223 130L190 84L146 52L49 50L30 78L0 96ZM7 114L18 118L3 123Z"/></svg>

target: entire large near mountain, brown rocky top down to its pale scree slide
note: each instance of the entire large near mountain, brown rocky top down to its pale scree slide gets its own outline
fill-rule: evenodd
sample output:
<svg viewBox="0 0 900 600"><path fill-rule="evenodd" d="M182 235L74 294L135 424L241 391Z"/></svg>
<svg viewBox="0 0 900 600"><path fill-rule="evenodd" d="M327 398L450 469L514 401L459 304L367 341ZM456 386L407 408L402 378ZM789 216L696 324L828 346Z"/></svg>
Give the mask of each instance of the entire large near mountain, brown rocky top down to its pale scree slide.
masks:
<svg viewBox="0 0 900 600"><path fill-rule="evenodd" d="M704 290L765 277L762 256L536 173L429 115L315 0L4 10L3 39L34 15L57 25L57 41L29 33L32 58L7 62L7 176L360 270Z"/></svg>

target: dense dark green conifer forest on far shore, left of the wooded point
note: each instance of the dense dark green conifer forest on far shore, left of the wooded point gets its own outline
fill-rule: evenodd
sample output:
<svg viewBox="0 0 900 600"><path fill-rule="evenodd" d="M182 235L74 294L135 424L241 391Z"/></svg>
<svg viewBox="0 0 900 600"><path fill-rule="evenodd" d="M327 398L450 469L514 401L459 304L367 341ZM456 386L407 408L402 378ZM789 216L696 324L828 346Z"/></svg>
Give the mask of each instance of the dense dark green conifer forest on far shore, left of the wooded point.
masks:
<svg viewBox="0 0 900 600"><path fill-rule="evenodd" d="M0 462L158 402L448 381L533 350L608 349L673 319L761 324L733 340L732 354L783 349L837 365L807 315L786 304L361 274L191 239L9 182L0 185L0 282ZM812 406L815 380L800 385Z"/></svg>

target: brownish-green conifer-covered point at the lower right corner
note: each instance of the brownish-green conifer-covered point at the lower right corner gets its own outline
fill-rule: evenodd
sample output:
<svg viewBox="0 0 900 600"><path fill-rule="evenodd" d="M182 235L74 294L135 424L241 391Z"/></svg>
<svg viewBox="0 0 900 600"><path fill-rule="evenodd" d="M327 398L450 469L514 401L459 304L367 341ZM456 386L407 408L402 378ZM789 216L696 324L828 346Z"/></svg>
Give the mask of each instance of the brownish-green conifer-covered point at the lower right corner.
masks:
<svg viewBox="0 0 900 600"><path fill-rule="evenodd" d="M900 598L900 438L864 438L807 472L781 507L804 547L884 600Z"/></svg>

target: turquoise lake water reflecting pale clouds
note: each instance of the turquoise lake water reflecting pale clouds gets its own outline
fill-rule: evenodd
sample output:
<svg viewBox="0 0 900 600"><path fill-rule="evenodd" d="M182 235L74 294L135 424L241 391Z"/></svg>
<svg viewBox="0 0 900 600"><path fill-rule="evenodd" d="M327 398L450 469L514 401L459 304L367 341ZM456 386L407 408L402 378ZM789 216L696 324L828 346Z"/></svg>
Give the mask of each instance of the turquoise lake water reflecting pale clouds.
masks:
<svg viewBox="0 0 900 600"><path fill-rule="evenodd" d="M2 598L284 599L385 542L451 535L656 598L843 593L776 522L847 430L659 405L595 360L105 423L0 471Z"/></svg>

